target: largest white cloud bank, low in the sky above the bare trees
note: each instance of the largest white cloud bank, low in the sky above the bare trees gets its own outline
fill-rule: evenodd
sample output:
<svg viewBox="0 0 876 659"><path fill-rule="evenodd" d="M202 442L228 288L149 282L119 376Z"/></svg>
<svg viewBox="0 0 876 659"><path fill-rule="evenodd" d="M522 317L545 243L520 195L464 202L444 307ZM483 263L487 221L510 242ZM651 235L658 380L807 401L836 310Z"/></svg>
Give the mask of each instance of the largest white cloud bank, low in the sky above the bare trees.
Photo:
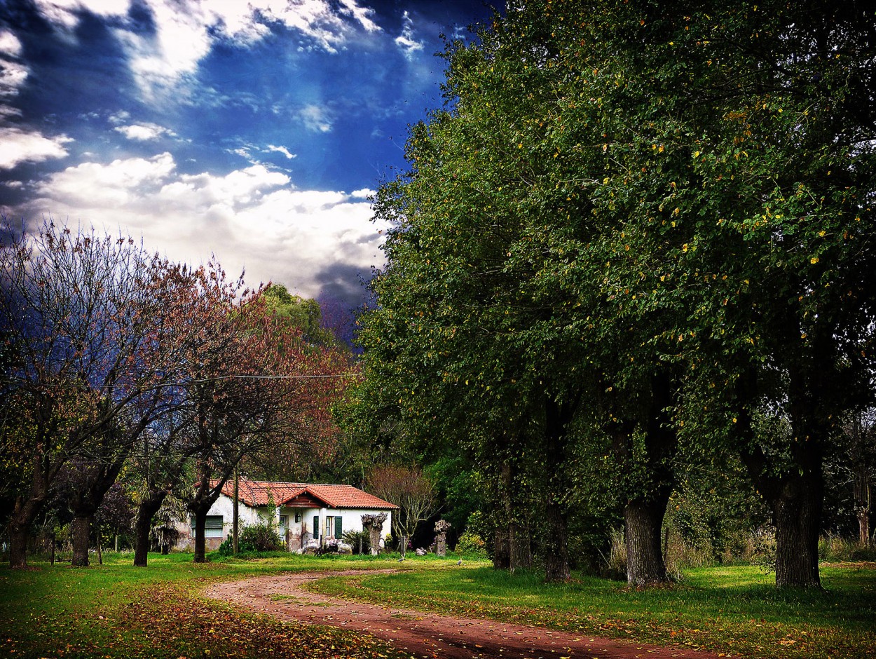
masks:
<svg viewBox="0 0 876 659"><path fill-rule="evenodd" d="M36 186L39 198L11 209L142 235L151 249L199 264L215 254L251 284L283 281L320 293L319 273L340 264L368 273L382 261L370 222L370 190L348 194L293 188L286 174L253 165L229 174L183 174L170 153L86 162ZM355 286L355 284L353 284Z"/></svg>

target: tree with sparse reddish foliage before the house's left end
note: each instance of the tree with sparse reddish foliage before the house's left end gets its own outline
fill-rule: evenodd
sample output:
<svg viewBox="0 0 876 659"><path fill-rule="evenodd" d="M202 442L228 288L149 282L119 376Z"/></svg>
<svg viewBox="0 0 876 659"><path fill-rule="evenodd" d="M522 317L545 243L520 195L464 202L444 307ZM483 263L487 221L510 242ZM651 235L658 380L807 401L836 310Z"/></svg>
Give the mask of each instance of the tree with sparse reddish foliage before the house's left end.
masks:
<svg viewBox="0 0 876 659"><path fill-rule="evenodd" d="M328 447L330 406L349 362L335 347L310 344L290 319L272 313L261 291L238 294L217 267L203 281L210 301L187 386L193 401L196 484L194 560L205 560L209 508L241 460L278 444L294 452Z"/></svg>

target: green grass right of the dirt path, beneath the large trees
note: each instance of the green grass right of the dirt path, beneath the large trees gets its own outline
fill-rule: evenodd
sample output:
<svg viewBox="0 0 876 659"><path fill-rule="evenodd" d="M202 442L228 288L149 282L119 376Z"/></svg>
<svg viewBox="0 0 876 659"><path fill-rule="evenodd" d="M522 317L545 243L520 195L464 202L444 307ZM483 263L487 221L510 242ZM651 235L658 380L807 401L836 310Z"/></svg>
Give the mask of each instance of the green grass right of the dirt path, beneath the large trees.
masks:
<svg viewBox="0 0 876 659"><path fill-rule="evenodd" d="M822 569L827 592L777 591L757 567L689 570L647 591L577 576L544 584L475 565L334 577L310 587L352 599L573 633L630 638L747 657L876 657L876 566Z"/></svg>

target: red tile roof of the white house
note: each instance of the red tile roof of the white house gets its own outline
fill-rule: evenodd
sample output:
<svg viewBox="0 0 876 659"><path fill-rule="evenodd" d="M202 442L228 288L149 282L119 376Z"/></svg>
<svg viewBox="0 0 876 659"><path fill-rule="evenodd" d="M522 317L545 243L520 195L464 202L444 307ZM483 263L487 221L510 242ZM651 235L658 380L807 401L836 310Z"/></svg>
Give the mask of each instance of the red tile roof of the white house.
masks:
<svg viewBox="0 0 876 659"><path fill-rule="evenodd" d="M223 485L222 492L234 497L234 481ZM324 501L329 508L372 508L394 510L395 504L379 499L373 494L363 492L352 485L321 485L316 483L282 483L270 480L249 480L241 478L238 484L239 499L247 506L267 506L273 500L275 506L292 502L300 495L309 494Z"/></svg>

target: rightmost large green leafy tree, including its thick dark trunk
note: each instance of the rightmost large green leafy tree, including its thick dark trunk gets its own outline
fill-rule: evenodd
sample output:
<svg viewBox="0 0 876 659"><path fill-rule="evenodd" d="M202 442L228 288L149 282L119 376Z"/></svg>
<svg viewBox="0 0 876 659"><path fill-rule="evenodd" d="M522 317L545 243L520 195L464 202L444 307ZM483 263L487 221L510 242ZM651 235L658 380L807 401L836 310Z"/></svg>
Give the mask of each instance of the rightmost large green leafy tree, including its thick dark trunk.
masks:
<svg viewBox="0 0 876 659"><path fill-rule="evenodd" d="M823 455L872 367L872 13L553 6L581 45L569 124L602 131L604 285L646 329L631 363L683 369L676 429L738 450L773 511L777 584L817 586Z"/></svg>

